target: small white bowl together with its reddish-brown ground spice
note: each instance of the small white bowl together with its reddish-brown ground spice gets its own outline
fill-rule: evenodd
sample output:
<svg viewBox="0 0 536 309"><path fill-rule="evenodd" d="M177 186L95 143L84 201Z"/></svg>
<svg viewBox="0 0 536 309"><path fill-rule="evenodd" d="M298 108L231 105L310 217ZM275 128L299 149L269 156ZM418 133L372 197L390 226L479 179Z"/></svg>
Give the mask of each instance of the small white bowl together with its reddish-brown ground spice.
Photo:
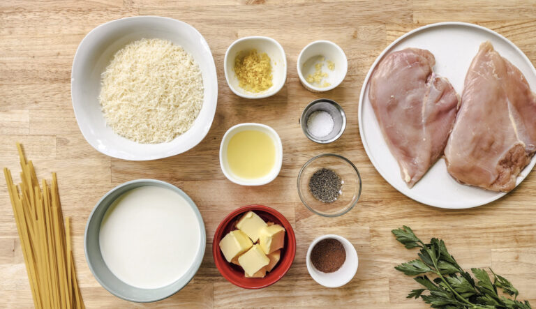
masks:
<svg viewBox="0 0 536 309"><path fill-rule="evenodd" d="M309 274L320 285L341 287L354 278L359 259L348 239L327 234L309 245L306 264Z"/></svg>

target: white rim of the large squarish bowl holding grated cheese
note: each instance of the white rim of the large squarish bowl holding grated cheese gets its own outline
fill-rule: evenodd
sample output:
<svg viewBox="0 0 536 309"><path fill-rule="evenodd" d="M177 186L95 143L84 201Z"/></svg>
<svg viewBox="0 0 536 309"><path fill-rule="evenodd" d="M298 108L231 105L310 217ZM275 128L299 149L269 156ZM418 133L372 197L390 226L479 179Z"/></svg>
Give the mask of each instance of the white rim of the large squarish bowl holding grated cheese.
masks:
<svg viewBox="0 0 536 309"><path fill-rule="evenodd" d="M178 151L177 150L168 151L167 153L163 153L162 155L155 155L155 156L147 156L146 155L146 156L139 157L139 156L132 155L132 154L129 154L128 156L124 156L123 154L117 153L116 151L110 151L110 149L108 149L108 148L99 149L98 145L94 141L92 141L91 139L88 139L87 132L84 132L84 130L82 130L82 127L80 126L80 122L79 122L80 109L77 108L77 105L75 105L74 96L73 96L73 79L74 79L73 72L74 72L74 68L75 68L75 63L80 61L80 47L82 47L82 44L84 43L84 41L89 40L88 37L91 35L91 33L94 33L95 31L97 31L97 29L100 29L101 27L108 27L109 24L114 24L116 22L120 22L120 21L123 21L123 20L147 20L147 19L170 20L170 21L175 22L177 24L182 24L182 25L184 25L184 26L186 26L188 28L191 28L191 29L193 29L193 31L195 33L198 34L198 36L200 38L200 43L202 45L204 45L204 47L207 48L207 52L210 55L211 63L209 63L209 66L211 64L211 66L210 66L211 75L214 75L216 77L216 79L215 79L216 80L216 89L214 91L215 104L214 104L214 107L211 108L211 111L209 111L209 118L211 119L211 121L209 121L209 123L206 123L208 125L208 126L206 126L207 129L203 130L202 135L200 135L198 137L198 141L196 141L191 146L191 148L178 150ZM179 155L181 153L184 153L184 152L186 152L188 150L191 150L191 149L195 148L195 146L198 146L198 144L200 144L200 142L202 142L204 140L204 137L207 137L207 134L210 131L212 123L214 122L214 116L216 114L216 107L218 105L218 78L217 78L217 73L216 73L216 63L214 63L214 56L212 55L212 51L210 50L210 47L209 47L209 44L207 43L207 40L205 40L204 36L202 36L202 34L198 31L198 29L193 27L191 24L188 24L186 22L182 22L181 20L176 20L176 19L171 18L171 17L163 17L163 16L157 16L157 15L131 16L131 17L119 18L117 20L110 20L110 21L105 22L103 24L99 24L94 29L91 29L91 31L89 31L84 36L84 38L82 38L82 40L80 41L80 44L76 48L75 56L73 57L73 64L72 64L72 66L70 68L70 100L71 100L71 104L73 105L73 112L75 114L75 119L76 119L76 122L77 122L77 125L78 125L78 129L80 130L80 133L82 133L82 136L84 136L84 140L86 140L86 142L88 144L90 144L96 151L98 151L100 153L103 153L106 156L110 156L112 158L118 158L118 159L122 159L122 160L132 160L132 161L158 160L158 159L162 159L162 158L168 158L168 157L171 157L171 156L177 156L177 155ZM201 107L201 108L203 108L203 107ZM77 112L77 110L79 110L79 112ZM179 137L179 136L177 136L177 137ZM175 137L175 138L177 138L177 137ZM90 142L90 140L91 140L91 142Z"/></svg>

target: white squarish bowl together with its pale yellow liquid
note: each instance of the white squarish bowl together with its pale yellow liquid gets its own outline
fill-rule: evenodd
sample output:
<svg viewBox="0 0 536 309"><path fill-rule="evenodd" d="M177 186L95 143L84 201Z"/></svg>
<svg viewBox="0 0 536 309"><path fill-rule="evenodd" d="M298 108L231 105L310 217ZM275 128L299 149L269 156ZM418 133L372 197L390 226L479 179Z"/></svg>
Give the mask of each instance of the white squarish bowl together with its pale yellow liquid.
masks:
<svg viewBox="0 0 536 309"><path fill-rule="evenodd" d="M260 123L233 126L221 140L220 166L225 177L242 186L274 180L283 164L283 144L276 130Z"/></svg>

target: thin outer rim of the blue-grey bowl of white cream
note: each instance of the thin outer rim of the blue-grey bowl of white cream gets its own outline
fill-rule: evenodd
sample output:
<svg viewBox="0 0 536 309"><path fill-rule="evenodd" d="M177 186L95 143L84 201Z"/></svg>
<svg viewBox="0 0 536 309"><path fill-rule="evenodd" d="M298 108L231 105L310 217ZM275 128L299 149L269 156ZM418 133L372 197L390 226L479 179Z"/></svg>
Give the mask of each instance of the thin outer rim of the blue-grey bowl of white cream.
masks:
<svg viewBox="0 0 536 309"><path fill-rule="evenodd" d="M144 186L152 186L151 183L156 183L161 187L166 187L166 188L169 188L170 190L174 190L175 192L179 193L179 195L181 195L181 197L186 199L186 202L188 202L188 204L190 204L190 206L192 206L192 209L193 209L193 211L195 213L195 216L198 218L198 223L200 225L199 226L200 227L200 246L199 246L199 249L198 249L198 253L196 254L196 256L200 257L200 259L195 259L195 261L191 265L191 269L195 269L195 271L193 272L193 275L190 278L188 278L188 280L186 280L184 282L184 284L182 284L180 287L178 287L177 291L172 292L171 294L167 294L165 296L158 297L156 299L140 300L140 299L135 299L135 298L128 297L128 296L125 296L123 294L120 294L115 289L110 287L110 285L107 285L106 282L101 280L101 278L96 275L93 263L89 260L88 254L87 254L87 237L88 237L87 232L88 232L88 229L89 229L89 223L90 223L91 219L93 218L94 213L101 206L101 204L103 203L103 201L105 200L106 197L108 197L109 195L112 195L112 193L114 193L115 191L117 191L117 190L119 190L119 189L121 189L121 188L123 188L125 186L130 186L133 183L144 183ZM161 180L158 180L158 179L135 179L135 180L131 180L131 181L126 181L126 182L121 183L120 185L112 188L112 190L110 190L107 193L105 193L105 195L103 195L103 197L101 197L101 199L99 199L98 202L95 204L94 208L91 210L91 213L89 214L89 217L87 218L86 227L84 229L84 255L86 257L87 266L89 267L89 270L91 271L91 274L94 276L94 278L97 280L97 282L99 284L101 284L102 287L104 287L108 292L110 292L114 296L117 296L120 299L124 299L126 301L132 301L132 302L135 302L135 303L153 303L155 301L161 301L163 299L167 299L168 297L176 294L181 289L184 289L184 287L186 287L186 285L188 285L188 283L191 282L191 280L193 279L195 274L198 272L198 270L199 270L199 268L200 268L200 266L202 264L202 260L203 260L204 252L205 252L206 248L207 248L207 231L205 230L203 216L201 215L201 212L199 211L197 204L195 204L195 202L193 202L193 199L191 199L191 197L189 195L187 195L183 190L181 190L181 188L179 188L177 186L174 186L173 184L168 183L166 181L161 181ZM185 278L186 278L186 275L185 275ZM177 282L179 280L181 280L181 278L179 278L175 282ZM171 284L173 284L173 283L171 283Z"/></svg>

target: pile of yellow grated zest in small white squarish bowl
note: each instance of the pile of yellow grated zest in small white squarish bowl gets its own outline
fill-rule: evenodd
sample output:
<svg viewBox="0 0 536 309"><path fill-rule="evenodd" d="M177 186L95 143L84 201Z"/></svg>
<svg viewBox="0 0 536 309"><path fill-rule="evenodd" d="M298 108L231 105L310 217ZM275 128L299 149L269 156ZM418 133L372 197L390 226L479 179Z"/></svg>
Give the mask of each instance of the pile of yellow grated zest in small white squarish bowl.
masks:
<svg viewBox="0 0 536 309"><path fill-rule="evenodd" d="M257 50L239 52L234 59L234 73L239 86L246 91L261 92L272 86L270 57Z"/></svg>

